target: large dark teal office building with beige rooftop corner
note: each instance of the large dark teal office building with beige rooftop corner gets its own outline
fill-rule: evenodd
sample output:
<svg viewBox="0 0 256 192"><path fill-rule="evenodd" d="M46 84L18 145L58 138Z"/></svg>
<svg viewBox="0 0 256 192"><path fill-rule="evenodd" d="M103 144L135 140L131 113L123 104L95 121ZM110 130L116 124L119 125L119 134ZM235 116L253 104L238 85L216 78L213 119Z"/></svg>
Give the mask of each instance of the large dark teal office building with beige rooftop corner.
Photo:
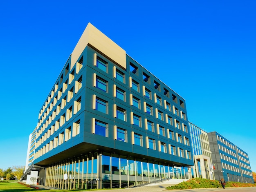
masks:
<svg viewBox="0 0 256 192"><path fill-rule="evenodd" d="M190 140L185 100L89 23L39 111L34 165L58 189L190 179Z"/></svg>

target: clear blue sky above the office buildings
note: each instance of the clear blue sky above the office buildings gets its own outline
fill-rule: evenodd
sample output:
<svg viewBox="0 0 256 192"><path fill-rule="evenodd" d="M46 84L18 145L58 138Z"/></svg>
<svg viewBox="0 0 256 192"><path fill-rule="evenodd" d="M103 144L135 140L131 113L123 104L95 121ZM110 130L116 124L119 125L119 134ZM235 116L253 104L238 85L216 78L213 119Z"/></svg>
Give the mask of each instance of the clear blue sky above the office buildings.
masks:
<svg viewBox="0 0 256 192"><path fill-rule="evenodd" d="M88 22L186 99L256 171L256 1L0 2L0 168L25 165L38 112Z"/></svg>

